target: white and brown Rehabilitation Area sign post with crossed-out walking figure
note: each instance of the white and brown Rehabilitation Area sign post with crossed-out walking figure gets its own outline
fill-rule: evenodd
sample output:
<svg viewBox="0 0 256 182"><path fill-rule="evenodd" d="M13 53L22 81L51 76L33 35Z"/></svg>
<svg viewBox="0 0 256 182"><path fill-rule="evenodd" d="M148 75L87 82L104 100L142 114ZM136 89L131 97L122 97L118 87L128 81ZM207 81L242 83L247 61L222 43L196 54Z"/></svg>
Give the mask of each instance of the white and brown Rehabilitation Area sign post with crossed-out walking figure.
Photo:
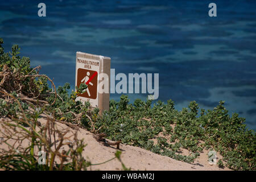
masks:
<svg viewBox="0 0 256 182"><path fill-rule="evenodd" d="M85 92L78 94L76 100L83 103L89 101L92 107L100 109L100 114L104 110L109 110L110 60L110 57L76 52L76 86L79 88L81 83L87 85ZM101 90L104 88L99 88L99 85L103 80L108 83L104 85L108 86L108 92L102 93ZM106 91L106 88L104 90Z"/></svg>

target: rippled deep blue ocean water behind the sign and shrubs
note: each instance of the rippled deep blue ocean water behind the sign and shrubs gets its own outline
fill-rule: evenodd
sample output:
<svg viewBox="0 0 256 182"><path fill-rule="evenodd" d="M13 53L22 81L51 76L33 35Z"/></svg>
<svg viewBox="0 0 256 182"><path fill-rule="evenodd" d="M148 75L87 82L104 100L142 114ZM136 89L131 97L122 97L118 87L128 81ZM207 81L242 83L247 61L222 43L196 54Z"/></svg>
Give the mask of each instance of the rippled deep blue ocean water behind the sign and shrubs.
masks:
<svg viewBox="0 0 256 182"><path fill-rule="evenodd" d="M46 17L38 4L46 3ZM1 1L0 37L55 84L75 85L76 52L112 58L115 73L159 73L159 100L197 101L256 129L256 1ZM118 100L120 94L111 94ZM129 94L146 100L147 94Z"/></svg>

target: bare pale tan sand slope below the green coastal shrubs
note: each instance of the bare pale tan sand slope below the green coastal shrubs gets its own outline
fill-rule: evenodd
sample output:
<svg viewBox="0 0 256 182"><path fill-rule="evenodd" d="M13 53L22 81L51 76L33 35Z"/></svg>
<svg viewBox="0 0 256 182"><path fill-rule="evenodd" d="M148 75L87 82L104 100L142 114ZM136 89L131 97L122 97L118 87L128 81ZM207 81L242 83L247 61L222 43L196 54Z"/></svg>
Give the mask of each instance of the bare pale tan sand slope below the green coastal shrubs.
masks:
<svg viewBox="0 0 256 182"><path fill-rule="evenodd" d="M42 124L46 122L43 118L40 118L39 121ZM57 126L63 129L68 128L68 126L62 123L57 123ZM69 130L72 129L69 128ZM105 146L97 142L92 133L84 129L79 129L77 137L79 139L84 138L85 143L88 144L85 147L83 155L85 159L89 160L92 164L102 163L114 157L116 151L115 147ZM188 164L168 158L167 156L154 154L139 147L125 144L120 145L120 150L122 151L121 159L123 163L127 168L131 168L132 170L229 170L228 168L218 168L217 165L210 166L207 161L207 151L201 153L195 164ZM105 164L92 166L90 169L120 170L122 166L117 159L114 159Z"/></svg>

